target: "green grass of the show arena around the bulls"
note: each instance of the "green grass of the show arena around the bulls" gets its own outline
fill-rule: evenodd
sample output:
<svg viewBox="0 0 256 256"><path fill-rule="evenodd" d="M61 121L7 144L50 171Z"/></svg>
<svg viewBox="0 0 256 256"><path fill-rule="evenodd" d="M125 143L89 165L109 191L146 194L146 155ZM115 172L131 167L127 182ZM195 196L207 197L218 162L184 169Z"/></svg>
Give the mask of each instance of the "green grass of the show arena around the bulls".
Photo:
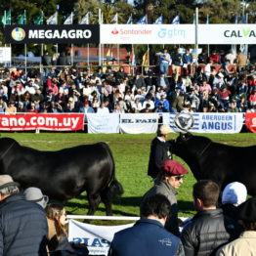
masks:
<svg viewBox="0 0 256 256"><path fill-rule="evenodd" d="M142 195L152 186L148 177L149 145L154 134L128 135L128 134L84 134L84 133L3 133L2 137L16 139L23 146L41 150L57 150L83 144L106 142L112 150L116 165L116 177L122 184L124 193L113 203L113 214L121 216L138 216L139 204ZM176 138L178 134L171 135ZM255 134L204 134L214 142L233 146L250 146L256 144ZM184 163L177 156L175 159ZM195 180L190 173L179 189L178 201L180 216L192 216L192 185ZM88 210L85 193L71 199L66 209L72 214L86 214ZM105 208L100 204L96 215L105 215ZM99 223L99 222L97 222ZM107 222L109 224L109 222Z"/></svg>

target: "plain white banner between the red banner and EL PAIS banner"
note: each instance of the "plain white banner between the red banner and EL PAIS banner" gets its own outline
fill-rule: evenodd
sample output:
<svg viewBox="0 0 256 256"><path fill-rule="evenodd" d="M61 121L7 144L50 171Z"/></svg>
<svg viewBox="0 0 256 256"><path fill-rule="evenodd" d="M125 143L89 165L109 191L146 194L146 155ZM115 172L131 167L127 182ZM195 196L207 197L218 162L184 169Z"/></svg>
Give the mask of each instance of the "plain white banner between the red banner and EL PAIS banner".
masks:
<svg viewBox="0 0 256 256"><path fill-rule="evenodd" d="M118 113L88 113L88 133L119 133Z"/></svg>

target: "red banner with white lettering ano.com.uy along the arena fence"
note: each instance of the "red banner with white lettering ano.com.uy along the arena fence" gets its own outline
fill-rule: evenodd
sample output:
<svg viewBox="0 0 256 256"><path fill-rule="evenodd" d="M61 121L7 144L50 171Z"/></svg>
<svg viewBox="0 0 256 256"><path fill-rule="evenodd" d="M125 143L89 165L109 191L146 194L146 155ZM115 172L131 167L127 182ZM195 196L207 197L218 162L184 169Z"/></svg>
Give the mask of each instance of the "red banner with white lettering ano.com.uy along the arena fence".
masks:
<svg viewBox="0 0 256 256"><path fill-rule="evenodd" d="M0 115L0 130L2 131L75 131L83 130L84 114L2 114Z"/></svg>

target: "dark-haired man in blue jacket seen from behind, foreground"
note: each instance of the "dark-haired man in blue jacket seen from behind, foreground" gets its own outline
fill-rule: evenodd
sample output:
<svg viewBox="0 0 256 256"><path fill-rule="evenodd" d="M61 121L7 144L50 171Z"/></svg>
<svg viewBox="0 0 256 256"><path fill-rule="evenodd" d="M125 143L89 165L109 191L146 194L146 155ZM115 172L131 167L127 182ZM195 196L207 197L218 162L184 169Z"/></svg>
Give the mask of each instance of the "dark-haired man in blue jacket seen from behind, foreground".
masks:
<svg viewBox="0 0 256 256"><path fill-rule="evenodd" d="M164 229L170 209L164 195L149 196L141 205L141 219L114 235L108 256L185 255L180 238Z"/></svg>

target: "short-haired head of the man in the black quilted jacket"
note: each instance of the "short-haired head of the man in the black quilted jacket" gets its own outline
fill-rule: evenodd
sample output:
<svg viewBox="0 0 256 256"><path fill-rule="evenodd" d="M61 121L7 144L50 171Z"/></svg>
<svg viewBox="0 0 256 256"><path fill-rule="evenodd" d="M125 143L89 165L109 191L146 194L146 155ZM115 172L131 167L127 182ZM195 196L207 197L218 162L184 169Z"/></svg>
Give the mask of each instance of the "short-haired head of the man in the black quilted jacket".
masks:
<svg viewBox="0 0 256 256"><path fill-rule="evenodd" d="M192 195L195 201L199 200L201 205L197 210L216 207L220 194L220 188L217 183L210 180L201 180L193 185Z"/></svg>

